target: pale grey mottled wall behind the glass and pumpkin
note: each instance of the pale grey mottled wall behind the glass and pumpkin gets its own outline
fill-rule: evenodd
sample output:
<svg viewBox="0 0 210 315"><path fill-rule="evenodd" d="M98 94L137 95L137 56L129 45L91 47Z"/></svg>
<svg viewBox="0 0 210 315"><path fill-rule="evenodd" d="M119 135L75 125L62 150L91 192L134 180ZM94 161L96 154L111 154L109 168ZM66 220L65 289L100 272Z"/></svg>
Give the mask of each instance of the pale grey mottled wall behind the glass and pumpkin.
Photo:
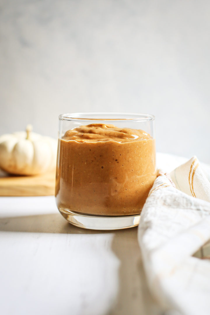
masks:
<svg viewBox="0 0 210 315"><path fill-rule="evenodd" d="M210 2L0 0L0 134L149 112L157 150L210 163Z"/></svg>

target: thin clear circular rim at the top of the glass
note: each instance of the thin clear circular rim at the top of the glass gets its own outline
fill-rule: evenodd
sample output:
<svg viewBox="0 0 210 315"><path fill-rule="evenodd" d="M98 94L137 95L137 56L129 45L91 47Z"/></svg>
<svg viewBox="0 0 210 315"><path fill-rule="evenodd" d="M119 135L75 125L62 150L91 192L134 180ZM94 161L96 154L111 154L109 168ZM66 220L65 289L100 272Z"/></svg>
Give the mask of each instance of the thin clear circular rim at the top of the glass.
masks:
<svg viewBox="0 0 210 315"><path fill-rule="evenodd" d="M87 117L79 117L79 116L90 116L90 118ZM136 116L133 118L93 118L91 117L94 115L124 115L124 116ZM134 122L145 122L145 121L152 121L155 120L155 116L151 114L144 114L144 113L126 113L126 112L77 112L77 113L66 113L59 115L60 120L66 120L66 121L134 121Z"/></svg>

